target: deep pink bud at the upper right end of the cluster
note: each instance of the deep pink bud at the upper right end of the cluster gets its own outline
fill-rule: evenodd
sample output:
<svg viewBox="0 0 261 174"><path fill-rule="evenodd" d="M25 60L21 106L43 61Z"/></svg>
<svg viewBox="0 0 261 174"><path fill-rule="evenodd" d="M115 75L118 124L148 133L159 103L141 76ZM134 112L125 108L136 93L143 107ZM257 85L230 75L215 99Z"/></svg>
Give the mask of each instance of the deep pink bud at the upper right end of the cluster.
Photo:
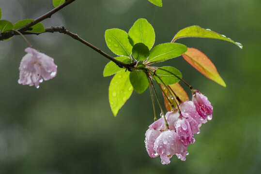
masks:
<svg viewBox="0 0 261 174"><path fill-rule="evenodd" d="M195 104L201 120L212 119L213 107L206 96L199 91L195 91L192 95L192 102Z"/></svg>

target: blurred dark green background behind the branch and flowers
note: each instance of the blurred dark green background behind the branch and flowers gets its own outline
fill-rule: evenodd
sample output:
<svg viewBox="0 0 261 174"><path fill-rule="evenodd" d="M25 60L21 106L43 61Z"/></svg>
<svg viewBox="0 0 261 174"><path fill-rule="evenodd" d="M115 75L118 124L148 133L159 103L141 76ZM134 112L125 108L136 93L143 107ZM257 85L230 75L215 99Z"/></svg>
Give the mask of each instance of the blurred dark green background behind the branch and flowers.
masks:
<svg viewBox="0 0 261 174"><path fill-rule="evenodd" d="M52 0L0 0L0 8L2 19L14 24L53 6ZM57 76L36 89L17 83L27 43L19 36L1 41L0 174L260 174L260 8L261 0L163 0L162 8L148 0L76 0L43 22L63 25L111 56L105 30L128 31L138 18L153 25L154 45L170 42L191 25L244 45L241 50L219 40L177 41L205 53L227 87L205 78L182 57L164 63L178 68L214 107L213 120L188 146L186 161L173 157L169 165L151 159L145 149L144 134L153 122L148 89L133 92L118 116L112 115L111 77L102 75L107 58L64 34L26 36L58 65Z"/></svg>

